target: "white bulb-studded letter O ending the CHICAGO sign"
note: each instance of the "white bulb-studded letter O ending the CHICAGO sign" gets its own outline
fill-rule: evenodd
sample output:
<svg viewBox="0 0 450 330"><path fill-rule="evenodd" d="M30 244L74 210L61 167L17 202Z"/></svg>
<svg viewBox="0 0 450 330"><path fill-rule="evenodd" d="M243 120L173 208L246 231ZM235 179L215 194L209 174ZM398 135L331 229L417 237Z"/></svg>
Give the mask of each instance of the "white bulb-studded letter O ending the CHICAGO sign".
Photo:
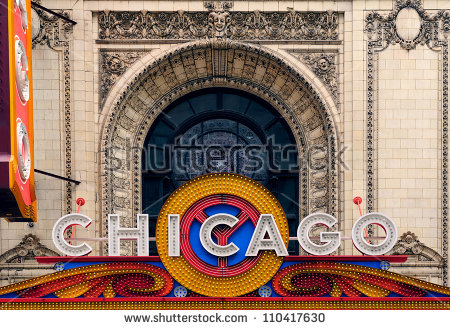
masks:
<svg viewBox="0 0 450 330"><path fill-rule="evenodd" d="M386 231L386 238L381 244L372 245L364 238L364 228L372 223L383 227ZM355 245L359 252L371 256L388 253L397 242L397 236L397 227L395 226L394 221L388 216L377 212L363 215L356 220L352 229L353 245Z"/></svg>

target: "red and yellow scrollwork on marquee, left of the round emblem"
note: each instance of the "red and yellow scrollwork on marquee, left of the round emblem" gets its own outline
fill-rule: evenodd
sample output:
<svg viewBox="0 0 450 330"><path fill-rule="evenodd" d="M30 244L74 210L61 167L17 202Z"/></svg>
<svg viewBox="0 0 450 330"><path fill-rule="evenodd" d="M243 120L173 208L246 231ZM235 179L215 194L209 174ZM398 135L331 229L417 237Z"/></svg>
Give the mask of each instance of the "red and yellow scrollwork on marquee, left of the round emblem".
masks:
<svg viewBox="0 0 450 330"><path fill-rule="evenodd" d="M144 263L108 263L63 270L0 288L0 295L20 298L55 294L58 298L162 297L170 293L173 279L162 268Z"/></svg>

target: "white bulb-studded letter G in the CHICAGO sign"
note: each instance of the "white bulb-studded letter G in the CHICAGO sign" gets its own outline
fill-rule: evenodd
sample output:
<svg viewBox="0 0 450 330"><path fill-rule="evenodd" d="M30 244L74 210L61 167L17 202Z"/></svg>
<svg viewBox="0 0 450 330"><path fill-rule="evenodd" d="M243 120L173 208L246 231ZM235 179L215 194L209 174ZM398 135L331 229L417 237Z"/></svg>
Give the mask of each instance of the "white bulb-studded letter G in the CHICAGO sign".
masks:
<svg viewBox="0 0 450 330"><path fill-rule="evenodd" d="M323 245L315 244L309 238L309 232L315 225L325 225L328 228L337 223L335 217L326 213L314 213L305 217L297 229L298 243L308 253L323 256L336 251L341 244L341 233L322 232L320 241Z"/></svg>

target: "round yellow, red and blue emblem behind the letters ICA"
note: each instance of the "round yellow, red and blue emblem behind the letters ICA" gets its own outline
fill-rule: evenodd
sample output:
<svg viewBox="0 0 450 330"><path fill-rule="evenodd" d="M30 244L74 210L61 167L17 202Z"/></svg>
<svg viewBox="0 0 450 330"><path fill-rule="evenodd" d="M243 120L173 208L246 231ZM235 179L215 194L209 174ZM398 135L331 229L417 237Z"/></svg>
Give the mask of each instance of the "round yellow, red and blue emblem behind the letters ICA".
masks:
<svg viewBox="0 0 450 330"><path fill-rule="evenodd" d="M168 217L180 216L179 257L168 254ZM210 297L240 296L266 284L283 262L275 251L246 257L253 232L262 214L272 214L284 244L289 230L277 199L261 184L237 174L207 174L185 183L168 198L156 225L161 260L173 278L186 288ZM236 253L216 256L201 242L200 229L211 217L232 218L233 226L210 229L214 244L233 244Z"/></svg>

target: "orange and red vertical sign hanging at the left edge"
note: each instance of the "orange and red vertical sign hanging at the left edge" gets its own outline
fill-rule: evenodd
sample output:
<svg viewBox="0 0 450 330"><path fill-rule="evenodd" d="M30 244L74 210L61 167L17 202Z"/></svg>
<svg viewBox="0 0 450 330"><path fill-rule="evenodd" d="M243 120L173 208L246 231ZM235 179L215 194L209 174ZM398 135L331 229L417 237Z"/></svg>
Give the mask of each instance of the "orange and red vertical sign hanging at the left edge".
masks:
<svg viewBox="0 0 450 330"><path fill-rule="evenodd" d="M36 221L31 1L0 7L0 216Z"/></svg>

